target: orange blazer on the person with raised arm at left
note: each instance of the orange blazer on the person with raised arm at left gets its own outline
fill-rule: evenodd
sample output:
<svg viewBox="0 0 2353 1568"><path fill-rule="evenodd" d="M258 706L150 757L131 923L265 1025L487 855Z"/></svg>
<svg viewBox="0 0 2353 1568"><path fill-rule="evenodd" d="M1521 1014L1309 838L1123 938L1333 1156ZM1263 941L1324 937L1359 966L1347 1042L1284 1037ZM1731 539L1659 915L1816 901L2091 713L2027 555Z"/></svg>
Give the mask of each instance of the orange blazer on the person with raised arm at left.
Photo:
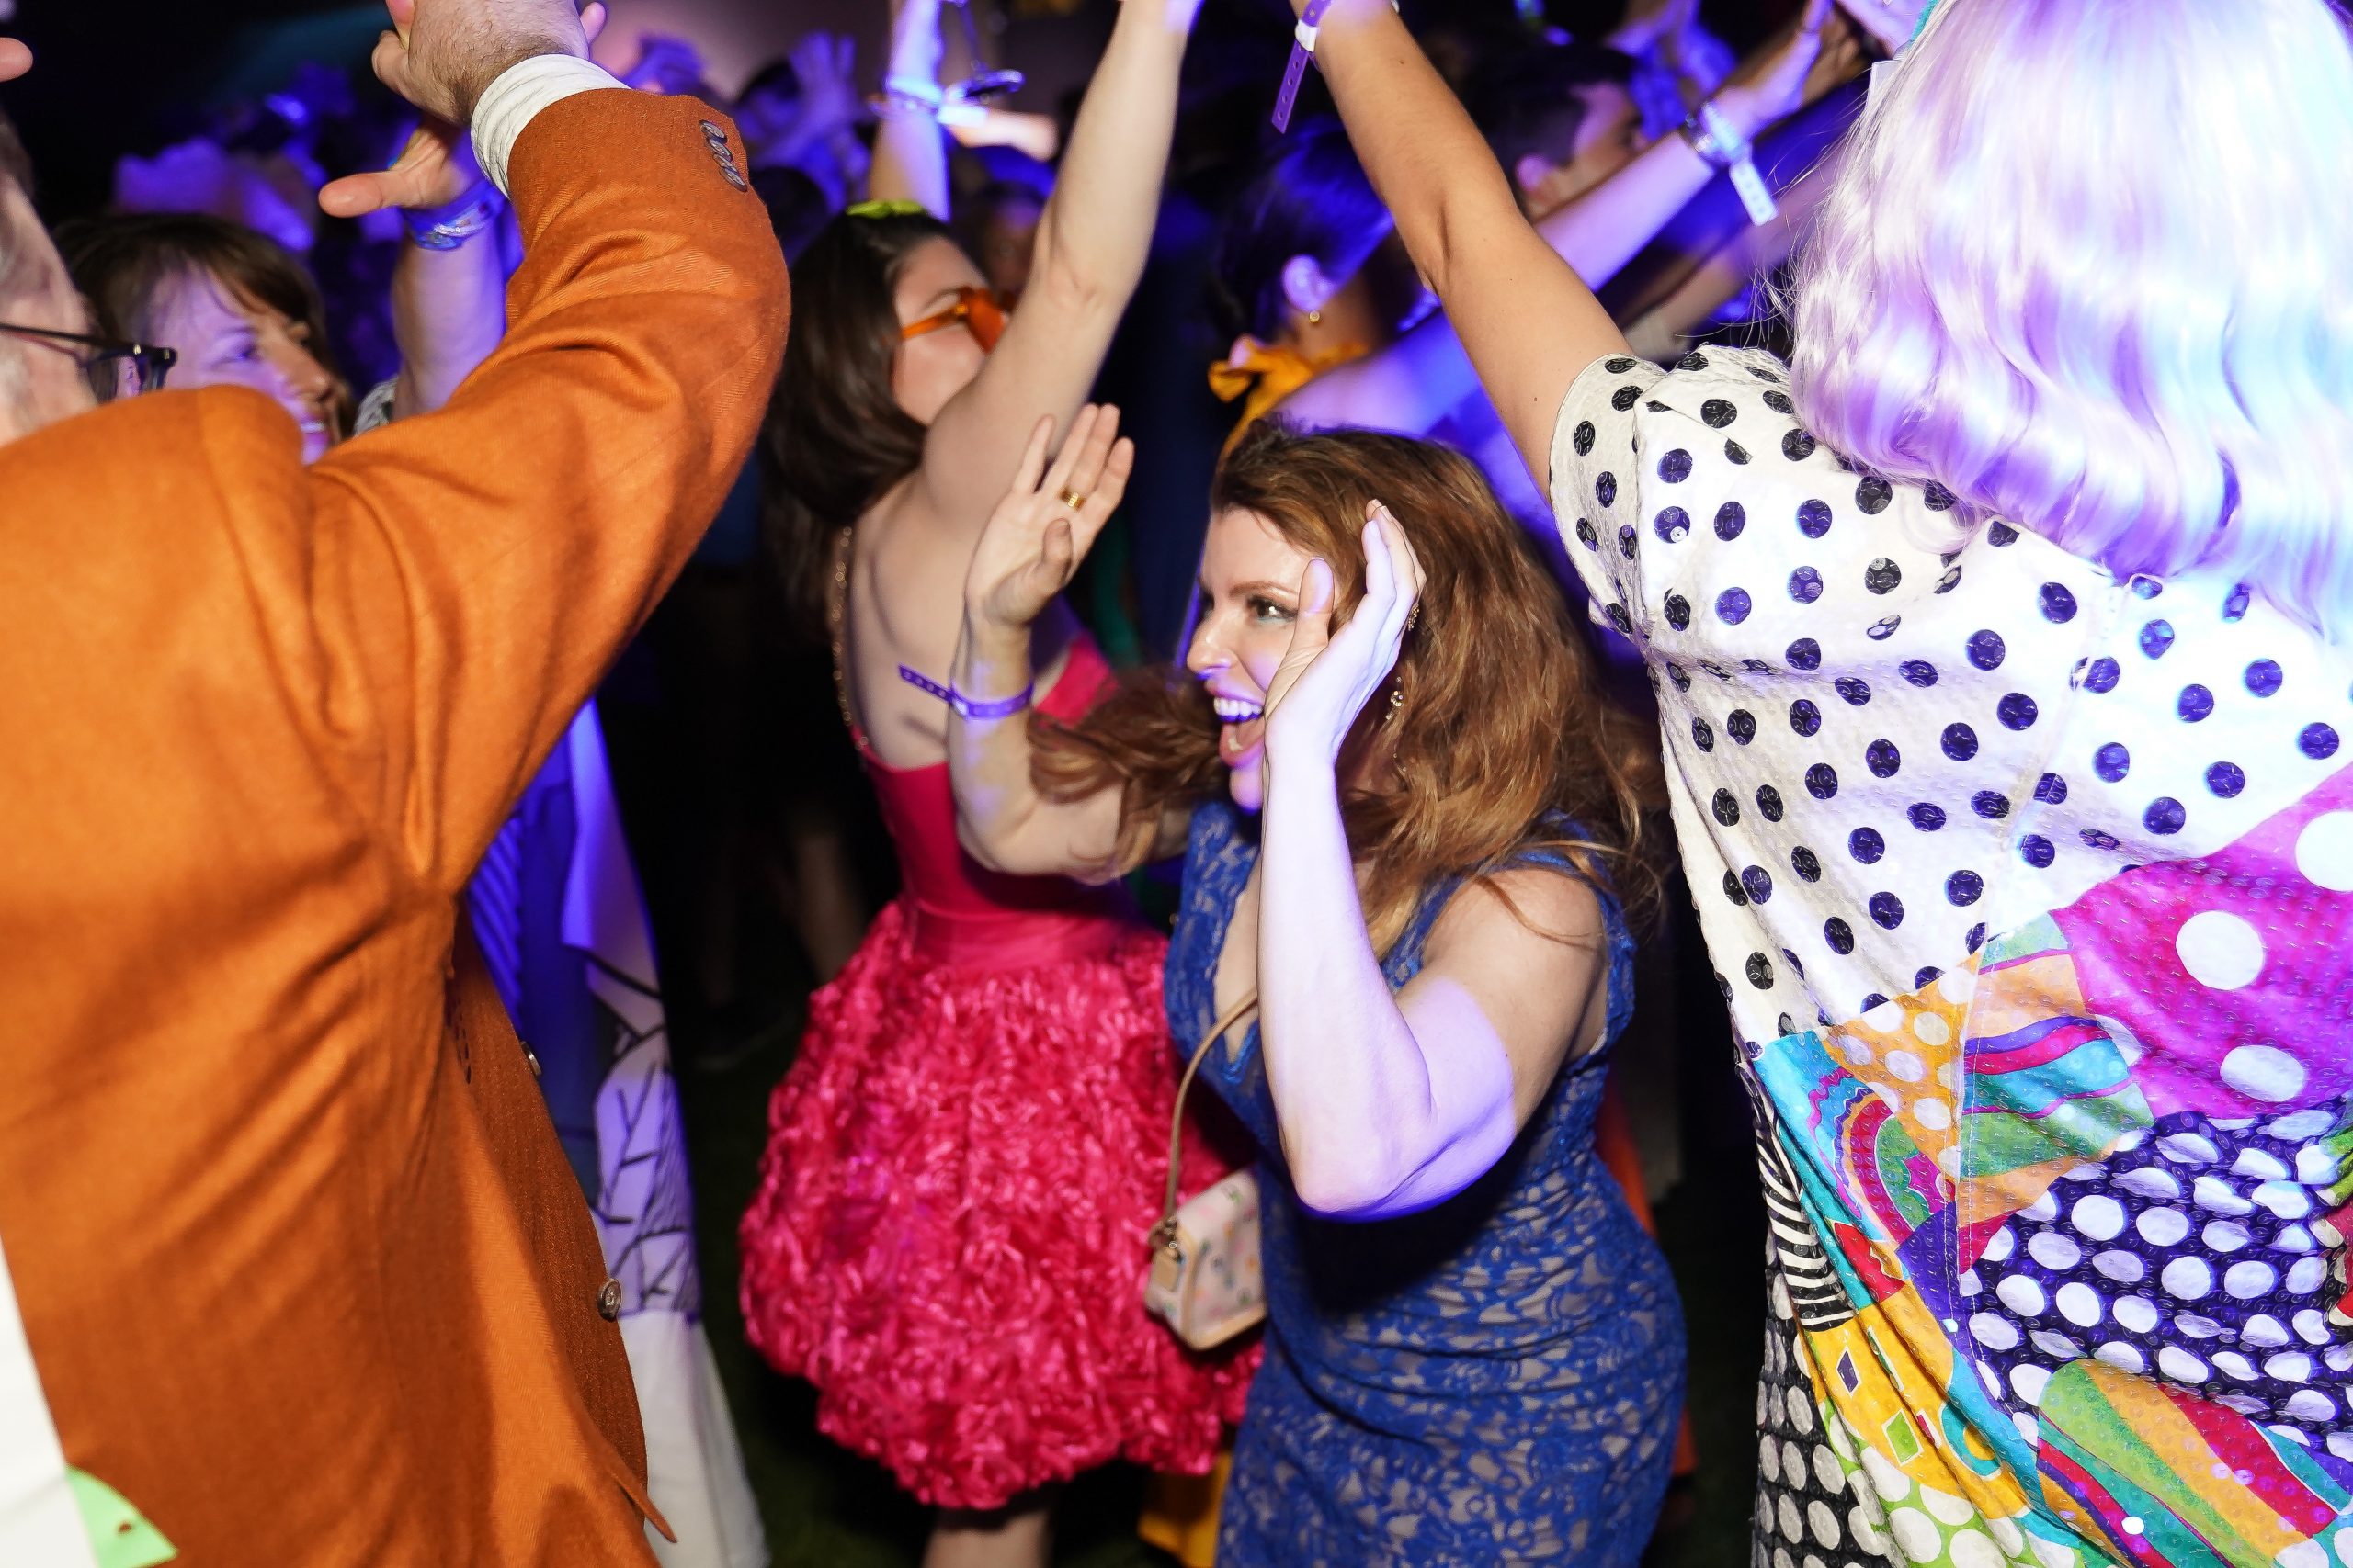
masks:
<svg viewBox="0 0 2353 1568"><path fill-rule="evenodd" d="M0 1244L66 1462L191 1568L652 1561L591 1218L454 926L767 404L744 167L689 99L541 113L506 343L313 468L226 388L0 447Z"/></svg>

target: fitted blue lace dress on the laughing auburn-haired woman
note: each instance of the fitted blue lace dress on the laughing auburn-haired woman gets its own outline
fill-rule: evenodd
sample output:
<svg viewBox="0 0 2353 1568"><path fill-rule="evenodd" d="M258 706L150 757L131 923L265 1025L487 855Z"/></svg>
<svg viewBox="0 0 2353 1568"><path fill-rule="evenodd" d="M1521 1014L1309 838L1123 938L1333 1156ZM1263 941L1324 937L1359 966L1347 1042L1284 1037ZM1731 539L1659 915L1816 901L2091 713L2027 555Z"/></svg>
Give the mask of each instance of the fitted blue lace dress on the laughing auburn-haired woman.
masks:
<svg viewBox="0 0 2353 1568"><path fill-rule="evenodd" d="M1184 1046L1217 1018L1217 959L1257 858L1233 806L1193 816L1167 969ZM1452 891L1424 898L1384 966L1391 987L1421 971ZM1640 1561L1682 1408L1682 1305L1593 1152L1602 1065L1633 999L1633 943L1617 900L1600 900L1602 1046L1562 1070L1494 1171L1435 1208L1308 1215L1282 1168L1257 1025L1202 1063L1259 1143L1268 1309L1219 1568Z"/></svg>

